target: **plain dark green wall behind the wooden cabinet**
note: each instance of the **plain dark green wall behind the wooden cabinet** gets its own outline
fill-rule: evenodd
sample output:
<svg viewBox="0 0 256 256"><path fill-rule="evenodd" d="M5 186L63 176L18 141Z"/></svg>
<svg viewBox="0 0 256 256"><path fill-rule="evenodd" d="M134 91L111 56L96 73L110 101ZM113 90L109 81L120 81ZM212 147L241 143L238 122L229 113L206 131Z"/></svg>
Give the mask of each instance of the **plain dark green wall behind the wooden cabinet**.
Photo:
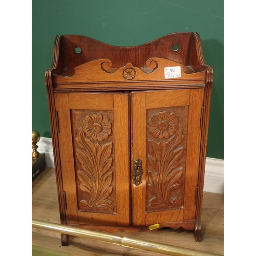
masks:
<svg viewBox="0 0 256 256"><path fill-rule="evenodd" d="M45 71L54 38L79 34L135 46L174 32L198 32L214 68L207 157L223 155L223 0L32 0L32 129L51 137Z"/></svg>

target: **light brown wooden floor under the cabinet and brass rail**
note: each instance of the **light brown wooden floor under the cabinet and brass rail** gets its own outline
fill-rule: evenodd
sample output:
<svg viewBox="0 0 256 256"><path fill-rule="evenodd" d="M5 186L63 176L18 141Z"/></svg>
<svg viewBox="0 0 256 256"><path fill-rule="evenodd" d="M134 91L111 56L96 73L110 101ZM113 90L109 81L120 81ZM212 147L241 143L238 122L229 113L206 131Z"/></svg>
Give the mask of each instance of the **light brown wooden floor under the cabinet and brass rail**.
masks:
<svg viewBox="0 0 256 256"><path fill-rule="evenodd" d="M46 168L32 182L32 218L60 223L55 171L52 168ZM182 228L177 230L162 228L137 233L118 231L116 234L223 255L223 195L204 193L201 224L203 241L200 243L195 242L192 231L186 231ZM60 233L35 228L32 228L32 245L57 250L59 253L68 253L65 255L163 255L72 236L69 238L69 246L61 246Z"/></svg>

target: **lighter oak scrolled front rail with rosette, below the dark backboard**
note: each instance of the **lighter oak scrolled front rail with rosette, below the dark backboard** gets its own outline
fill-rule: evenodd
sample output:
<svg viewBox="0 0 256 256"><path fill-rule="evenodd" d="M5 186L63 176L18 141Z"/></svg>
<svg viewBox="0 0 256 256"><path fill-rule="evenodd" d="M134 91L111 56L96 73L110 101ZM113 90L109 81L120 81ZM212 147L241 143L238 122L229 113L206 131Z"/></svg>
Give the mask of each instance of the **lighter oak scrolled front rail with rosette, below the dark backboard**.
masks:
<svg viewBox="0 0 256 256"><path fill-rule="evenodd" d="M53 76L53 81L55 84L58 83L77 83L77 82L117 82L117 81L152 81L152 80L200 80L205 76L205 71L198 73L193 72L186 74L184 72L184 65L173 60L163 59L163 58L150 58L146 61L146 65L150 66L153 64L152 69L146 68L144 72L141 68L135 67L133 63L129 62L125 66L119 67L109 71L109 68L104 70L104 64L107 67L112 66L111 59L96 59L82 65L75 67L74 71L71 72L71 76L56 75ZM144 65L144 66L146 66ZM181 73L180 77L177 78L165 78L164 68L166 67L180 67ZM145 70L145 69L144 69ZM67 71L66 71L67 72ZM127 75L128 74L128 75Z"/></svg>

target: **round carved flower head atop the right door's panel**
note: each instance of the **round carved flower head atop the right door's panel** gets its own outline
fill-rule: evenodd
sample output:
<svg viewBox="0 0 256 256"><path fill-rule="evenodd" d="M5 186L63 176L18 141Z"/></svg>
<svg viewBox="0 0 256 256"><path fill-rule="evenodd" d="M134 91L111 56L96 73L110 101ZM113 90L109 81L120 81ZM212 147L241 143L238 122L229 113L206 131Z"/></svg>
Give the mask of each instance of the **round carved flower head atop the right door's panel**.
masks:
<svg viewBox="0 0 256 256"><path fill-rule="evenodd" d="M169 138L178 130L178 119L167 111L153 115L148 124L148 131L154 138Z"/></svg>

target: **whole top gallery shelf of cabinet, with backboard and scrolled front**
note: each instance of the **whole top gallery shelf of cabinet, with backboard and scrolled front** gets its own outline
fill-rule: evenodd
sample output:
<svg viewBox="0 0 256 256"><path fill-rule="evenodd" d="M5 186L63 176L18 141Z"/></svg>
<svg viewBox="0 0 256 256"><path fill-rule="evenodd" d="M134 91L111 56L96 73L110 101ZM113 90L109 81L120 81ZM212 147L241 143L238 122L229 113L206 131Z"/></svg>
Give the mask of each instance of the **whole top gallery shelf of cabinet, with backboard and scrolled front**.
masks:
<svg viewBox="0 0 256 256"><path fill-rule="evenodd" d="M58 35L54 41L52 66L46 72L46 85L54 88L130 89L137 82L152 86L180 83L201 84L212 80L204 62L196 32L173 33L146 44L119 47L81 35ZM106 84L112 83L108 87ZM113 83L116 86L113 87ZM118 83L118 85L117 85ZM115 88L116 87L116 88ZM132 85L134 87L134 85ZM166 85L165 85L166 87ZM105 88L106 89L106 88ZM134 88L133 88L134 89ZM138 89L141 89L139 86Z"/></svg>

